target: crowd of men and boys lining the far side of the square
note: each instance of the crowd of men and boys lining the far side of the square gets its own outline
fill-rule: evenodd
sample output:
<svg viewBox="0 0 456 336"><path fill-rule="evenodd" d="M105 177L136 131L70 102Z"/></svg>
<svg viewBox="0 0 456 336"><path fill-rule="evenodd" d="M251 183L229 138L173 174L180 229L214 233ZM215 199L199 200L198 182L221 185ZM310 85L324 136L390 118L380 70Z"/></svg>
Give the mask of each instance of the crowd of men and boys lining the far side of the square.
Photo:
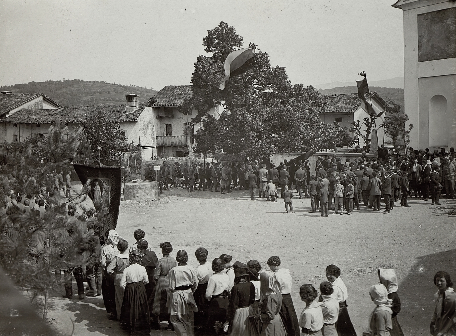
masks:
<svg viewBox="0 0 456 336"><path fill-rule="evenodd" d="M328 153L329 154L329 153ZM342 163L336 153L318 156L311 173L309 160L280 162L278 166L269 163L247 161L212 161L188 165L179 162L169 164L163 161L158 172L160 191L170 188L186 188L189 192L216 191L231 193L233 190L250 190L250 199L258 198L277 202L282 197L285 211L294 212L291 190L294 188L299 198L310 198L310 212L321 210L321 216L329 211L350 215L360 210L360 205L379 211L384 203L384 213L394 209L394 203L410 207L407 200L411 197L440 205L440 195L455 199L454 179L456 174L455 152L451 148L435 150L414 150L409 148L407 155L386 150L384 145L378 149L378 157L368 157L366 152L355 159L349 158ZM334 202L334 208L332 204Z"/></svg>

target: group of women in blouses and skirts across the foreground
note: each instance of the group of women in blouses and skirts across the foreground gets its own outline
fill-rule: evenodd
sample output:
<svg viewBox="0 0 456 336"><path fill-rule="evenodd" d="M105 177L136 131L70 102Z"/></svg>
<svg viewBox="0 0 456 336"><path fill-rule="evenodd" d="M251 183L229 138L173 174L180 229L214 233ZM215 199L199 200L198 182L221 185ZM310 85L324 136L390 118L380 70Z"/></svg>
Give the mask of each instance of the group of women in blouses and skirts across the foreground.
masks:
<svg viewBox="0 0 456 336"><path fill-rule="evenodd" d="M119 320L119 327L130 333L148 335L167 324L179 336L357 335L347 309L347 287L336 265L326 267L322 276L327 281L317 288L301 285L299 296L306 306L297 314L290 295L293 279L278 256L270 257L264 269L257 260L243 263L228 254L208 262L207 249L200 247L194 253L199 265L194 267L185 250L171 258L170 242L160 244L163 256L158 259L142 230L135 231L136 243L130 247L115 230L107 235L100 249L103 276L97 282L108 319ZM370 335L403 336L398 277L394 269L378 269L378 279L368 290L375 305L366 323ZM431 334L455 335L456 294L450 275L437 272L434 284L438 291Z"/></svg>

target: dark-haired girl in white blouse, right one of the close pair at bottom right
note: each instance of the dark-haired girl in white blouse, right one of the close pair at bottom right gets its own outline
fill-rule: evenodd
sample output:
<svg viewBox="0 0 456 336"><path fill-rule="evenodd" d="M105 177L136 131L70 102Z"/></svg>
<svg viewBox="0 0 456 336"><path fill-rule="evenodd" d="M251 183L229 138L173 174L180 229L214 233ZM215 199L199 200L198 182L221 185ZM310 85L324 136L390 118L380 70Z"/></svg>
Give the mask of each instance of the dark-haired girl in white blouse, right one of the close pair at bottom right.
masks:
<svg viewBox="0 0 456 336"><path fill-rule="evenodd" d="M329 281L323 281L320 284L320 302L323 311L323 335L337 336L336 323L339 316L339 303L331 295L334 293L332 284Z"/></svg>

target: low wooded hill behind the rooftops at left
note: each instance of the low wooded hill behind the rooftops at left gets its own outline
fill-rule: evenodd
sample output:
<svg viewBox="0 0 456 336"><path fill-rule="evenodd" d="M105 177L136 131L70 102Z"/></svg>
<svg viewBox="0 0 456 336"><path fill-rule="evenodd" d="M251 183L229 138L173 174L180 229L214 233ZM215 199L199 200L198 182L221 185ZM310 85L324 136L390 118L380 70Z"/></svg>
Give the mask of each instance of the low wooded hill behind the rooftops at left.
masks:
<svg viewBox="0 0 456 336"><path fill-rule="evenodd" d="M135 93L140 96L140 102L147 102L157 91L133 85L120 85L98 81L83 81L80 79L66 81L30 82L0 87L0 91L12 93L44 93L47 97L62 106L93 105L93 104L122 104L125 94Z"/></svg>

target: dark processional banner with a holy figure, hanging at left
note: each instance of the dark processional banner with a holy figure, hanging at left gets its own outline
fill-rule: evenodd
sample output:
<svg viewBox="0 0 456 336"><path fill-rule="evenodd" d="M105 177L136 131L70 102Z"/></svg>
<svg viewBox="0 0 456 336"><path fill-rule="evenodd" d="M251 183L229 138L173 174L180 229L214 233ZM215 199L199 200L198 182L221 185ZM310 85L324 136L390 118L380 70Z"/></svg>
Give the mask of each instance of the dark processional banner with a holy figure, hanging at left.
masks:
<svg viewBox="0 0 456 336"><path fill-rule="evenodd" d="M99 196L108 195L109 212L104 222L104 232L115 229L119 218L120 194L122 193L122 168L101 165L92 167L89 165L73 165L79 180L83 184L89 182L91 190L88 193L94 202Z"/></svg>

